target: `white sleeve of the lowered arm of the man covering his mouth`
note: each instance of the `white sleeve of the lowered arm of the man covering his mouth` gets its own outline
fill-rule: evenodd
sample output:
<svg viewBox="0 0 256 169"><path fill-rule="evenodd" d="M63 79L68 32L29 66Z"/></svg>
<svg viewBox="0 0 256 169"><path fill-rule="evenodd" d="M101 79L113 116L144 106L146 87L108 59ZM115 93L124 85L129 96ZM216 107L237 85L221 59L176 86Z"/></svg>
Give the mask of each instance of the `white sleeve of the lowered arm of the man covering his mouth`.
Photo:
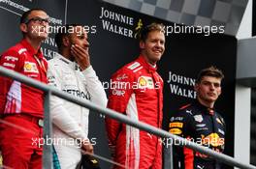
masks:
<svg viewBox="0 0 256 169"><path fill-rule="evenodd" d="M52 64L53 65L53 64ZM61 90L61 77L57 70L49 64L48 66L48 84ZM64 107L64 100L55 96L50 97L50 116L52 123L59 127L62 131L75 139L87 139L87 136L82 132L79 124L70 116L69 112Z"/></svg>

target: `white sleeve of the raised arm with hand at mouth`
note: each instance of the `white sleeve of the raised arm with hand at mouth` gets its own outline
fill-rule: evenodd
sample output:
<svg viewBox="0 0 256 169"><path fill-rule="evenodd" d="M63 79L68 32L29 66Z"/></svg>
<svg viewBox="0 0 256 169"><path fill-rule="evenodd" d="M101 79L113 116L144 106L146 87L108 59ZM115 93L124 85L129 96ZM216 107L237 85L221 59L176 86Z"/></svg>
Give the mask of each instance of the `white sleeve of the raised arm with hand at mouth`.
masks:
<svg viewBox="0 0 256 169"><path fill-rule="evenodd" d="M100 106L107 107L108 99L105 90L92 66L83 70L82 74L85 77L85 85L90 94L91 101Z"/></svg>

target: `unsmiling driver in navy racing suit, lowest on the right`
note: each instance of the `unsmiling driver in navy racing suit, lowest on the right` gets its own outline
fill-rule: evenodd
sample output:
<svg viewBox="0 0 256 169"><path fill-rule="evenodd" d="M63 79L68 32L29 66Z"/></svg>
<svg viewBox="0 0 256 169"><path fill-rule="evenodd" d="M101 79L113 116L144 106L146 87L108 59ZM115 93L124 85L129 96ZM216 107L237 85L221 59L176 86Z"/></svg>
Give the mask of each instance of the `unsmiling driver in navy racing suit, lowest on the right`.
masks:
<svg viewBox="0 0 256 169"><path fill-rule="evenodd" d="M214 109L221 94L221 70L214 67L201 70L195 85L197 100L182 106L170 119L169 131L222 153L225 143L225 123ZM220 169L220 163L186 147L174 146L174 168Z"/></svg>

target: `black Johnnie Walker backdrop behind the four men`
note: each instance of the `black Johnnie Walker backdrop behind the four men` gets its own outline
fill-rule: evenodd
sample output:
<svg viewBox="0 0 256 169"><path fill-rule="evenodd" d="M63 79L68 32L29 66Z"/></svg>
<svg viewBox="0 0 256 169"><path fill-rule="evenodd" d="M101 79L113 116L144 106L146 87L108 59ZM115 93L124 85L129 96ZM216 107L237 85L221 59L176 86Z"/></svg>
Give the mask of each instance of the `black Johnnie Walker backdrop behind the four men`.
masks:
<svg viewBox="0 0 256 169"><path fill-rule="evenodd" d="M65 1L41 1L40 2L19 2L13 0L27 8L44 8L48 14L54 18L65 19ZM0 2L0 7L11 9L18 14L21 11L13 9L11 6ZM121 23L110 18L100 18L102 8L132 17L133 24ZM109 82L112 73L124 64L134 60L139 55L139 45L135 38L125 37L115 34L103 28L104 22L110 21L115 26L120 26L136 33L138 22L142 19L144 25L152 22L163 22L166 25L174 25L158 18L145 14L139 14L130 10L122 9L100 0L73 0L67 4L67 23L81 23L90 27L96 26L96 33L89 33L91 63L98 76L104 82ZM9 46L15 44L19 39L18 33L18 14L11 13L3 8L0 9L1 42L0 53ZM50 40L53 34L50 35ZM52 57L55 44L45 42L43 49L48 58ZM185 97L189 92L192 93L193 87L176 81L169 81L170 72L174 77L180 79L186 77L193 81L199 70L210 65L215 65L225 73L223 81L222 96L216 102L216 109L226 120L226 151L227 155L234 155L234 115L235 115L235 77L236 77L236 51L237 40L226 35L211 35L206 37L201 34L172 34L166 39L166 52L158 64L159 72L165 81L164 90L164 123L167 123L177 107L185 104L192 99ZM171 86L179 88L176 92L171 90ZM107 90L106 90L107 91ZM180 92L181 91L181 92ZM191 92L192 91L192 92ZM182 95L182 96L180 96ZM89 124L89 136L95 137L97 145L95 154L110 157L107 137L104 127L104 118L97 113L91 112ZM102 168L110 168L110 164L101 160ZM225 167L228 168L228 167Z"/></svg>

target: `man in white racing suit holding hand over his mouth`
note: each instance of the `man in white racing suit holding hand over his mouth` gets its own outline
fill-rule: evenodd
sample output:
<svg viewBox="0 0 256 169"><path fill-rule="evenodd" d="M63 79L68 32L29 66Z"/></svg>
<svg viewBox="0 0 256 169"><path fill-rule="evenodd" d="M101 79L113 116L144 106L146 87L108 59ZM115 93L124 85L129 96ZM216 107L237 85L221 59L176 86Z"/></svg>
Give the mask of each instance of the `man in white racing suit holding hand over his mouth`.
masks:
<svg viewBox="0 0 256 169"><path fill-rule="evenodd" d="M87 34L80 25L66 25L55 36L59 53L48 62L48 83L80 99L107 105L104 88L90 65ZM70 31L73 30L73 31ZM81 151L93 153L96 140L89 140L89 109L65 99L50 99L52 139L61 169L75 169Z"/></svg>

